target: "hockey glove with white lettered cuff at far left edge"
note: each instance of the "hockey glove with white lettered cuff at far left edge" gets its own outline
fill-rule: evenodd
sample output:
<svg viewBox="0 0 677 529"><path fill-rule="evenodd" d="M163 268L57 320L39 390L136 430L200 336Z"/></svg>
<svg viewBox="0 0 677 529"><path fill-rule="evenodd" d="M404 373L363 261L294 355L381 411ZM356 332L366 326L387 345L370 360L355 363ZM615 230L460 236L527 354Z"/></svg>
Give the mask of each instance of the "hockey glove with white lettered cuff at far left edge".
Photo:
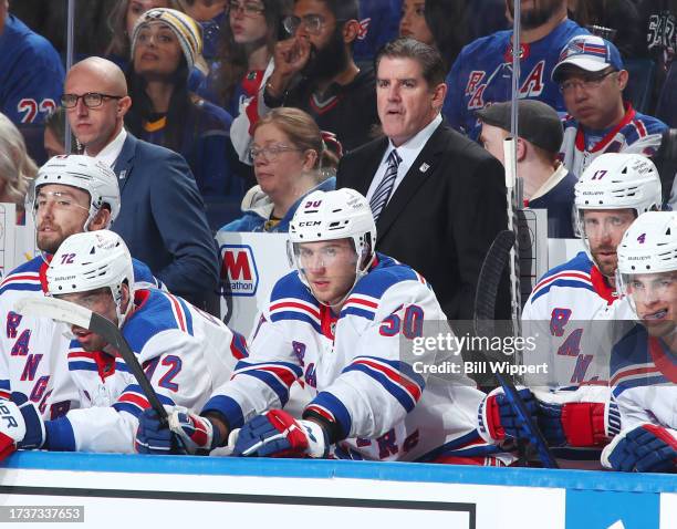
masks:
<svg viewBox="0 0 677 529"><path fill-rule="evenodd" d="M22 393L12 401L0 401L0 460L17 448L40 448L44 444L44 423L35 405Z"/></svg>

